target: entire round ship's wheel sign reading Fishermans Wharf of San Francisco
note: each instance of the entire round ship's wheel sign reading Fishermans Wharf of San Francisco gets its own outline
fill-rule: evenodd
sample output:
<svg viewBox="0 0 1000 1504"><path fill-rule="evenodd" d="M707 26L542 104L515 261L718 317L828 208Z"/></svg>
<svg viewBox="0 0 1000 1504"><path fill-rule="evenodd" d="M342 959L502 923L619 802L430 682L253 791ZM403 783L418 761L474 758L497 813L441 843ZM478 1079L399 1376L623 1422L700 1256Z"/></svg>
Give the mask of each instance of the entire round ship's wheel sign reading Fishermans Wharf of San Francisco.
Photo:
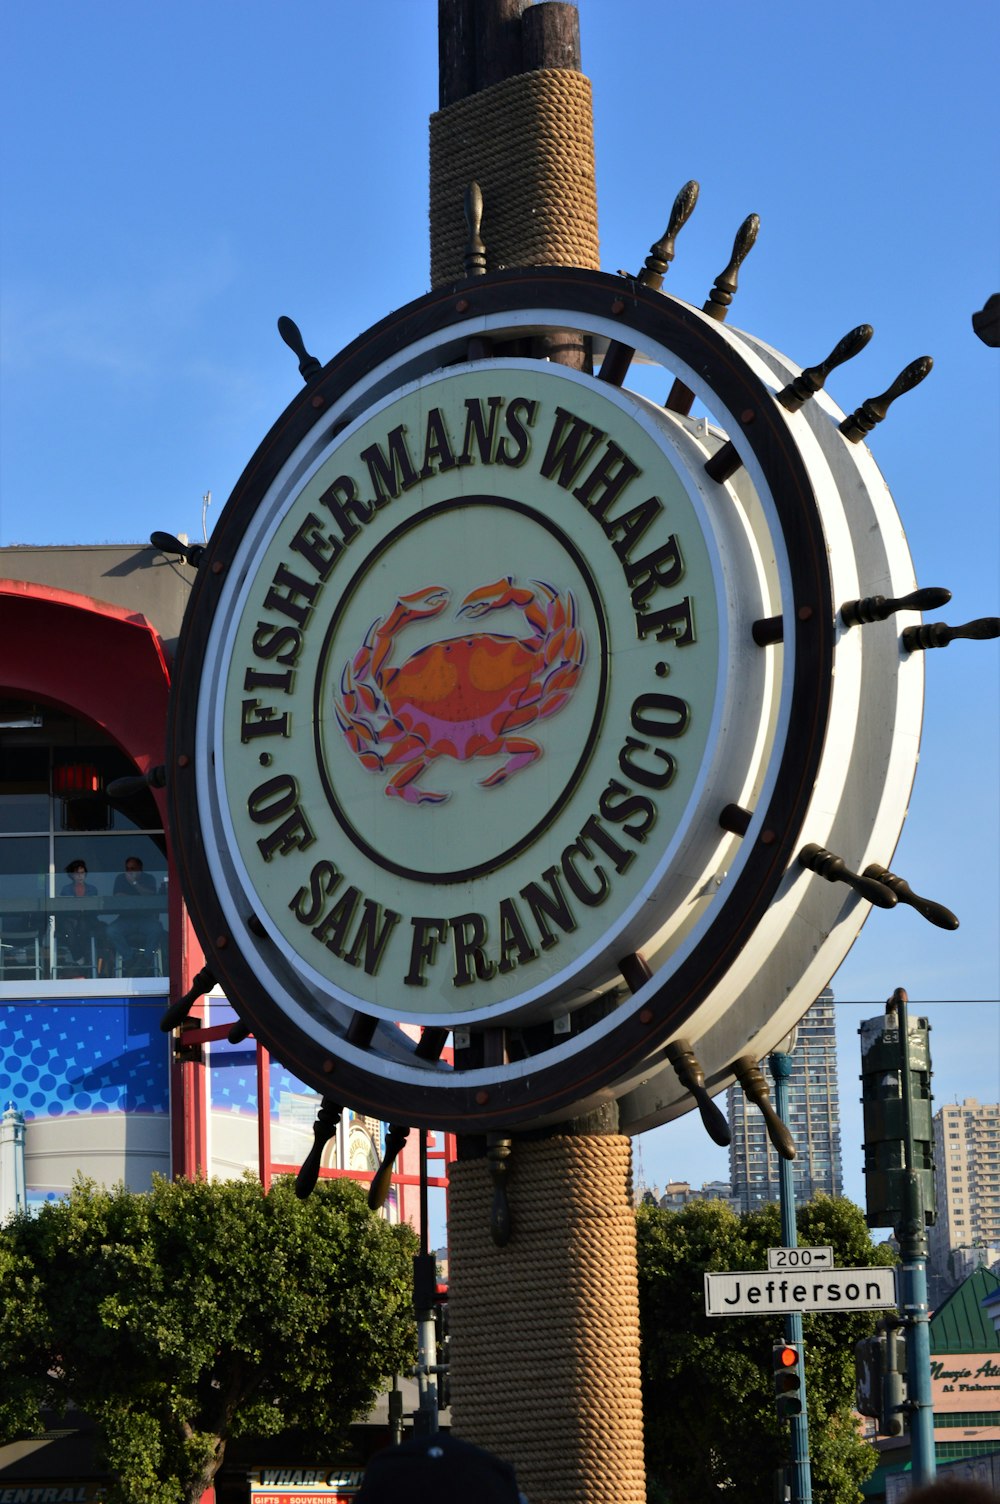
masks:
<svg viewBox="0 0 1000 1504"><path fill-rule="evenodd" d="M192 919L254 1032L373 1116L671 1116L671 1041L728 1078L868 913L803 847L887 865L902 823L920 656L838 617L914 585L871 456L826 396L776 402L783 356L621 286L496 274L386 319L275 424L198 572ZM711 421L490 352L567 326Z"/></svg>

